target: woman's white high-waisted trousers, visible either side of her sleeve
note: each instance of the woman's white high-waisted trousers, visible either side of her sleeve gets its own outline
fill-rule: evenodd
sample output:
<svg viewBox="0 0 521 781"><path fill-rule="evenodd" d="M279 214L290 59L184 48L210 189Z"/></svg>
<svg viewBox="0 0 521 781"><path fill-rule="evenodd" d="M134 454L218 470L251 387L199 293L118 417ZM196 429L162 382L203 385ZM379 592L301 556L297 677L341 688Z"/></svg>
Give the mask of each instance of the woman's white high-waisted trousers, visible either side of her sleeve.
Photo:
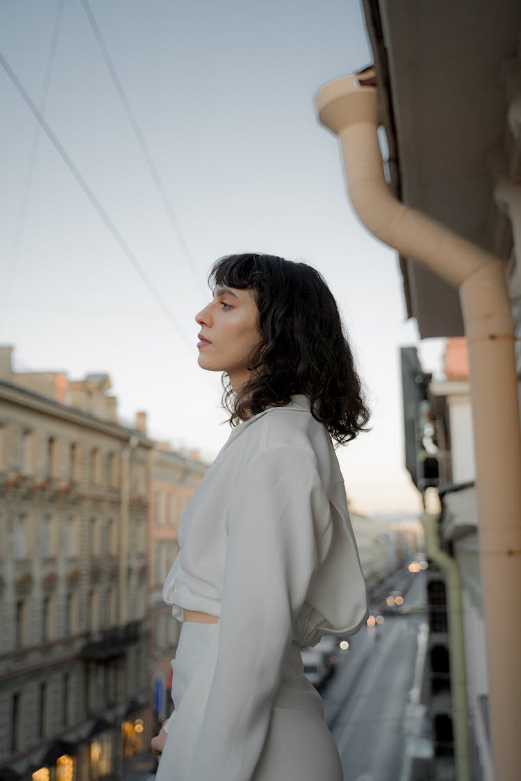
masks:
<svg viewBox="0 0 521 781"><path fill-rule="evenodd" d="M219 623L184 622L172 662L175 712L155 781L211 781L194 779L190 760L218 650ZM255 685L258 682L252 681ZM230 692L230 697L240 695ZM343 781L337 746L323 719L322 699L304 675L297 643L291 645L282 665L280 689L254 775L244 781Z"/></svg>

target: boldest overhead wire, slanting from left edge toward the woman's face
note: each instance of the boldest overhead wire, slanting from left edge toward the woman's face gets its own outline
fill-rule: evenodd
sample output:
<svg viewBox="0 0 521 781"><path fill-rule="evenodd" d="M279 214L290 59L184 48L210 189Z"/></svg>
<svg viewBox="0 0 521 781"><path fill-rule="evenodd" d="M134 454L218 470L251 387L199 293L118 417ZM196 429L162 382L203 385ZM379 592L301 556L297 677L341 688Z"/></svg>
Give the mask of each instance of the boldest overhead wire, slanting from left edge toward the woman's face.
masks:
<svg viewBox="0 0 521 781"><path fill-rule="evenodd" d="M62 142L59 141L59 138L52 130L52 127L49 126L45 117L41 114L41 111L38 109L37 105L30 97L29 93L27 92L26 88L23 86L20 79L16 76L16 73L12 70L12 67L9 65L9 62L7 62L2 52L0 52L0 65L2 65L3 69L5 70L5 73L7 73L9 79L12 81L12 84L14 85L14 87L16 87L16 90L20 93L21 97L23 98L23 101L27 104L30 111L34 114L38 123L40 123L41 128L42 130L44 130L49 141L51 141L52 145L59 153L63 162L65 162L67 168L70 169L70 172L73 174L73 177L77 180L77 183L84 191L84 194L87 196L88 200L91 201L91 204L94 206L96 212L98 212L98 215L102 218L103 223L105 223L105 226L112 234L112 237L114 237L117 244L120 245L120 248L123 250L123 254L127 257L127 260L130 261L130 264L134 267L134 270L141 277L141 281L148 288L148 291L152 294L152 297L155 299L156 303L162 309L163 314L169 320L170 324L173 326L173 329L177 332L177 335L180 337L181 341L183 341L187 349L193 352L191 343L187 340L187 337L184 335L183 330L181 330L172 312L170 312L170 309L166 305L166 301L164 301L162 295L159 293L155 285L152 283L152 280L149 279L148 274L145 272L143 266L141 266L141 263L137 259L136 255L134 255L134 252L130 249L127 242L123 239L123 236L120 234L120 231L116 228L116 226L112 222L112 219L110 219L107 212L105 212L105 209L103 208L102 204L100 203L100 201L98 201L98 198L96 198L95 193L92 191L91 187L87 184L87 181L80 173L80 170L73 162L73 159L66 151L66 148L63 146Z"/></svg>

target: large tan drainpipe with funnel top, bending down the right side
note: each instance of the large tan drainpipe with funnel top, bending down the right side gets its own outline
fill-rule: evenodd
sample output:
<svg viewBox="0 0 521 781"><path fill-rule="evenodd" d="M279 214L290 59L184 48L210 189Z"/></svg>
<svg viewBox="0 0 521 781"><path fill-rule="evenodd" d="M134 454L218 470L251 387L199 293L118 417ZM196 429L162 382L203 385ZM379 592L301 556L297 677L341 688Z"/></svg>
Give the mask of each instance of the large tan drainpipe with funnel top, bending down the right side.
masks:
<svg viewBox="0 0 521 781"><path fill-rule="evenodd" d="M330 82L316 105L320 121L340 138L351 203L362 223L459 290L469 346L492 754L496 781L516 781L521 632L512 618L521 594L521 440L504 262L394 198L377 136L376 87L361 83L371 77L366 71Z"/></svg>

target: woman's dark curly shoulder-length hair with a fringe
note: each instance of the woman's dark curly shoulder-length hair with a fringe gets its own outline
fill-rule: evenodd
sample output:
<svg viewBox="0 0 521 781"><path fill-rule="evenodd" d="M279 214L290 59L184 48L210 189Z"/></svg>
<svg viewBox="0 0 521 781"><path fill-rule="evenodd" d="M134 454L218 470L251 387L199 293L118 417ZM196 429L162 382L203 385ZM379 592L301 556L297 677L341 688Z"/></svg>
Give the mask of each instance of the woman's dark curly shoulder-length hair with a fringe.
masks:
<svg viewBox="0 0 521 781"><path fill-rule="evenodd" d="M262 333L252 375L237 394L223 374L223 407L232 426L304 394L313 417L339 444L369 430L369 408L337 303L316 269L276 255L225 255L209 273L209 286L216 285L252 288Z"/></svg>

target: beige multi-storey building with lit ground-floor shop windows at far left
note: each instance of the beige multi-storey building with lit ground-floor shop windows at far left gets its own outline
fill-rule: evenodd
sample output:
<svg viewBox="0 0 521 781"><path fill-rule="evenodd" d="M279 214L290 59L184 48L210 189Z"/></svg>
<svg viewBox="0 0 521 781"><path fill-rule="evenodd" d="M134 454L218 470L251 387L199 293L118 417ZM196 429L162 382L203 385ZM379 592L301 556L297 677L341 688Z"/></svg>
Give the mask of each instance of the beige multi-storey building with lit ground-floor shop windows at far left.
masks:
<svg viewBox="0 0 521 781"><path fill-rule="evenodd" d="M0 348L0 777L91 781L145 748L144 413Z"/></svg>

